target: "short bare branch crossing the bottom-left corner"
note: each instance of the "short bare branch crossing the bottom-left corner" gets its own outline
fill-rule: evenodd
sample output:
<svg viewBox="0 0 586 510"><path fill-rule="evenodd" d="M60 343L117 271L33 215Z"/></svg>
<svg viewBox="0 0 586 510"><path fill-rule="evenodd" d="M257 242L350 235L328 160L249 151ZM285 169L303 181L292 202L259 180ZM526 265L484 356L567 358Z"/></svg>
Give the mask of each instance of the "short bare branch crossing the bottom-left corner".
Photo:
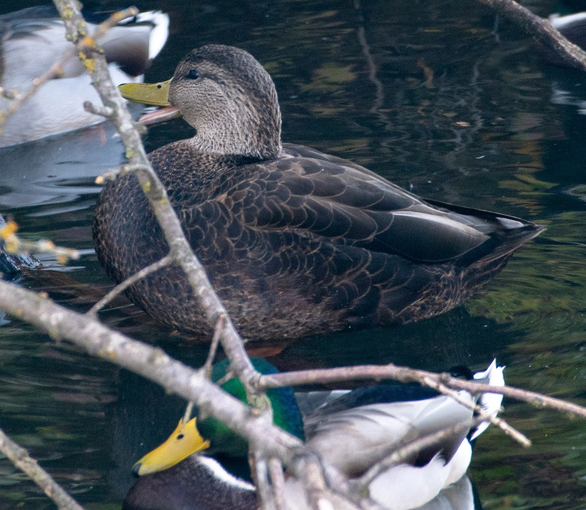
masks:
<svg viewBox="0 0 586 510"><path fill-rule="evenodd" d="M83 510L77 502L65 492L53 478L50 477L37 461L29 456L22 446L16 444L0 430L0 451L8 457L13 464L24 471L45 494L51 498L58 508L62 510Z"/></svg>

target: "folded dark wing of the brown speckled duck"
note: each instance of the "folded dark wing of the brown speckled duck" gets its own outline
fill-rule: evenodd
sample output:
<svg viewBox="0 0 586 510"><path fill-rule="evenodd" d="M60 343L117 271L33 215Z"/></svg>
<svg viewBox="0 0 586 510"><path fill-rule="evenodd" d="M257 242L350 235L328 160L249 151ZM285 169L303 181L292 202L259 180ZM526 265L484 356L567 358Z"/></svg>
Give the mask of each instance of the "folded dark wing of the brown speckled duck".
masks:
<svg viewBox="0 0 586 510"><path fill-rule="evenodd" d="M233 211L244 223L264 230L287 229L421 263L481 258L508 231L523 231L527 238L537 235L531 223L432 204L359 165L297 149L286 145L283 158L253 165L255 179L241 179L228 191ZM241 170L244 177L246 167ZM515 247L518 245L516 242Z"/></svg>

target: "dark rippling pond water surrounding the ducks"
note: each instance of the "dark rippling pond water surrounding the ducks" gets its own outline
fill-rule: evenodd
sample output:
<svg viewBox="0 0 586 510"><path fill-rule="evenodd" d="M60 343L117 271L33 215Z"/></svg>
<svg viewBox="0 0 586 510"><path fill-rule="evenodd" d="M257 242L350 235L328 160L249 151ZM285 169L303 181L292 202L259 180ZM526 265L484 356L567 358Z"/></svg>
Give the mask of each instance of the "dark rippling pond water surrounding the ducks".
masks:
<svg viewBox="0 0 586 510"><path fill-rule="evenodd" d="M424 197L548 227L484 292L441 317L262 354L283 348L271 358L282 369L389 361L481 368L497 357L509 384L586 404L586 74L547 66L532 40L474 2L138 6L171 15L171 38L149 80L169 77L192 47L243 47L274 77L285 141L352 159ZM528 6L553 10L546 1ZM145 143L151 150L190 133L174 121L152 128ZM81 311L105 292L110 282L91 243L93 179L121 160L108 128L0 152L0 211L26 238L83 252L64 268L43 257L47 269L25 275L23 286ZM123 300L101 317L194 365L205 356L204 345L157 328ZM171 432L182 402L19 321L2 321L0 353L0 426L88 508L118 508L130 465ZM586 423L512 401L503 416L534 446L483 434L469 471L483 507L585 508ZM0 460L0 508L53 507Z"/></svg>

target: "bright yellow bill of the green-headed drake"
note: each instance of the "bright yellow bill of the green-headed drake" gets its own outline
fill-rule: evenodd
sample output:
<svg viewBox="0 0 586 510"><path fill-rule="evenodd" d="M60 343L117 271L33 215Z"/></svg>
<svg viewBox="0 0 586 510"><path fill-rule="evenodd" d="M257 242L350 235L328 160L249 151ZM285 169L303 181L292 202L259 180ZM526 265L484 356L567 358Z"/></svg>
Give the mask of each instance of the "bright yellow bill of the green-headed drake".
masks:
<svg viewBox="0 0 586 510"><path fill-rule="evenodd" d="M204 440L195 425L193 418L187 423L179 420L179 425L161 446L149 451L134 466L132 473L142 476L157 471L164 471L180 463L184 458L189 457L197 451L209 448L210 441Z"/></svg>

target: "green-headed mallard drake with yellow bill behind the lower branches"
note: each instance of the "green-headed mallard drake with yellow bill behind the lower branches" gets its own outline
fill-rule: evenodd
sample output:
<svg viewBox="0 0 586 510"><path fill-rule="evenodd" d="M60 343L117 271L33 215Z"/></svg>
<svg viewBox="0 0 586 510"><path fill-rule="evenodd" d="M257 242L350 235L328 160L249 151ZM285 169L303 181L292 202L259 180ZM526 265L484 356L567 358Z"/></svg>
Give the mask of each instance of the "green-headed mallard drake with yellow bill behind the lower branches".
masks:
<svg viewBox="0 0 586 510"><path fill-rule="evenodd" d="M226 366L219 365L213 379L225 373ZM459 369L459 372L472 378L469 371ZM503 385L503 367L493 361L473 378ZM231 379L223 387L246 401L237 379ZM495 393L472 397L461 391L460 395L469 402L478 402L492 415L496 415L502 402L502 395ZM291 393L268 396L274 405L275 422L279 420L280 426L298 437L305 434L306 445L319 454L327 469L338 470L350 478L367 471L393 447L472 417L471 410L449 396L419 385L396 382L353 391L295 393L298 403L291 401ZM298 429L299 408L305 415L303 431ZM213 451L216 455L240 456L246 461L247 448L241 448L244 441L216 420L208 418L197 425L196 420L197 417L180 420L165 443L135 464L134 472L141 478L128 493L124 509L256 508L250 482L234 477L219 462L201 454ZM445 440L444 444L421 451L408 462L384 471L369 485L370 496L384 508L393 510L417 508L431 501L464 477L472 454L471 441L486 426L488 423L481 423L468 434ZM289 510L309 508L295 480L287 481L286 494ZM222 502L223 506L214 506L216 502Z"/></svg>

